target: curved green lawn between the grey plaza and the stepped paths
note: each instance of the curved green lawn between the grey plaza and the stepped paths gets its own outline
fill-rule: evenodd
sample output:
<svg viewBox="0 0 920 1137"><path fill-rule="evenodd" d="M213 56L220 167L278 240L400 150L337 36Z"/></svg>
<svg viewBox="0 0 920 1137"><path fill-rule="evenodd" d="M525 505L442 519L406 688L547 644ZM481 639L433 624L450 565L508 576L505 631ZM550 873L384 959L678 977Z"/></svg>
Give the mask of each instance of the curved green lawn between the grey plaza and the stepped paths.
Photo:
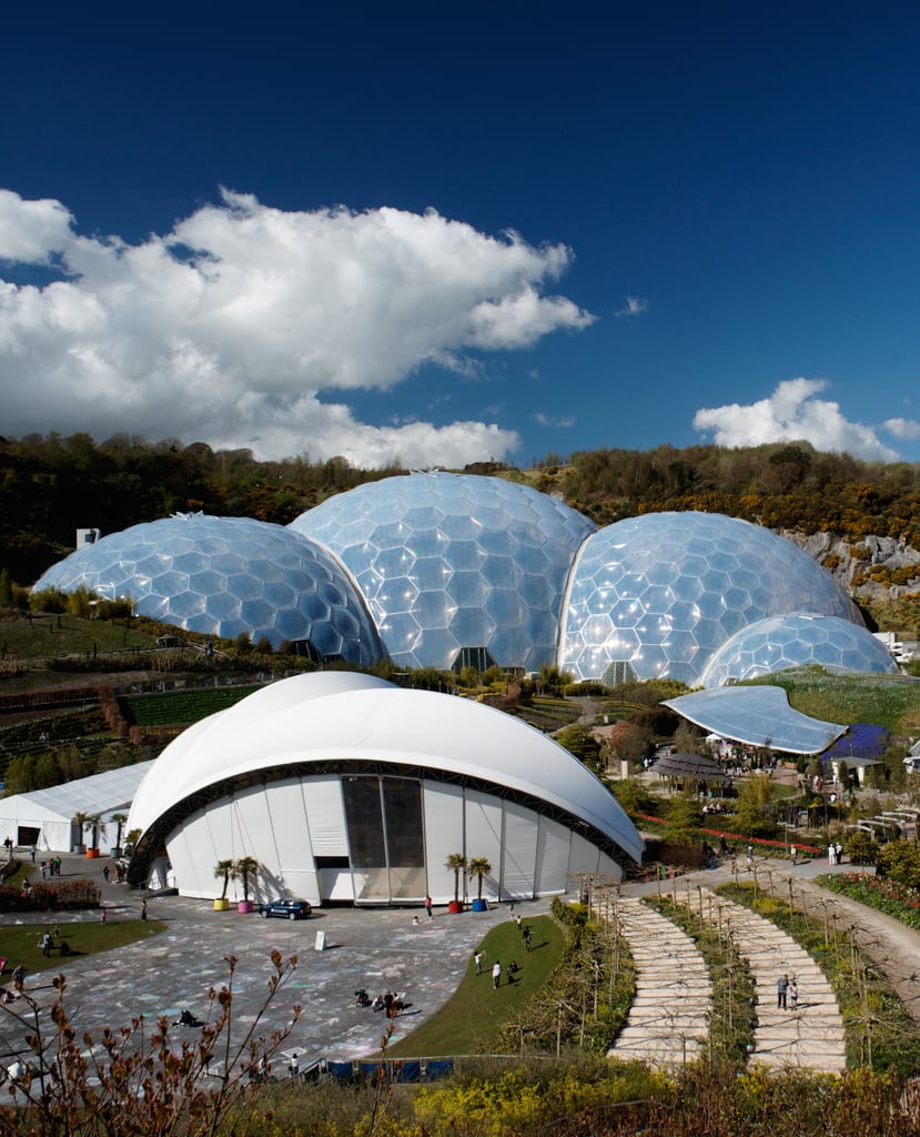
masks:
<svg viewBox="0 0 920 1137"><path fill-rule="evenodd" d="M534 933L529 953L524 948L513 920L499 924L480 945L486 952L483 973L476 974L470 955L459 988L437 1014L418 1030L411 1029L411 1009L409 1014L396 1019L393 1040L386 1048L387 1057L487 1053L505 1022L524 1018L528 1002L547 981L566 947L562 929L551 916L535 916L525 923ZM502 964L502 982L497 990L492 986L491 973L496 960ZM520 968L515 984L505 978L504 969L510 960ZM380 1027L385 1028L385 1023Z"/></svg>

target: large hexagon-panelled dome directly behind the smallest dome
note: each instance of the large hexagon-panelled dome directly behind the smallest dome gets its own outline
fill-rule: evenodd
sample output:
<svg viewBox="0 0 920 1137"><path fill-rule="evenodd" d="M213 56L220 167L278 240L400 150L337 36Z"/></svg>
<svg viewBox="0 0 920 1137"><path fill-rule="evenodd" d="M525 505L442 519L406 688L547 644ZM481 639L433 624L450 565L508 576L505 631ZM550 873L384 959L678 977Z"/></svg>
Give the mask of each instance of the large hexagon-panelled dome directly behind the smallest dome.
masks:
<svg viewBox="0 0 920 1137"><path fill-rule="evenodd" d="M705 513L630 517L582 547L560 664L578 680L669 678L695 687L731 636L792 612L862 626L830 574L768 529Z"/></svg>

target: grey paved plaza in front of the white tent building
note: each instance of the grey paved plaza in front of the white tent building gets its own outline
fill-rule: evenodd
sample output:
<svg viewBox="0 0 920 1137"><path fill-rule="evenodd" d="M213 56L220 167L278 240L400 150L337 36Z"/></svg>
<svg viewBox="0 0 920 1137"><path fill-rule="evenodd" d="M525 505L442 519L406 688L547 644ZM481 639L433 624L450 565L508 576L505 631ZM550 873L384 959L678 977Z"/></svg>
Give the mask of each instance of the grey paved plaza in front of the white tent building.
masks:
<svg viewBox="0 0 920 1137"><path fill-rule="evenodd" d="M98 877L109 926L118 920L139 919L141 894L126 885L106 882L106 858L87 861L65 856L62 877ZM549 902L519 904L525 918L549 911ZM259 1034L268 1035L291 1022L291 1010L303 1011L284 1053L298 1052L301 1069L317 1057L348 1060L365 1057L379 1049L386 1029L383 1014L356 1005L354 991L363 987L370 995L387 988L404 993L411 1004L394 1021L393 1041L404 1038L443 1005L459 985L476 945L497 922L509 919L508 905L488 912L449 915L436 906L428 920L424 908L332 907L315 911L309 920L261 919L258 913L235 910L215 912L210 901L178 896L151 897L151 920L161 920L166 931L152 939L117 952L85 960L61 961L60 969L26 978L26 990L40 1004L55 997L51 980L58 970L67 976L67 1004L81 1032L99 1035L103 1026L129 1023L143 1014L160 1015L173 1022L183 1010L204 1019L208 990L228 977L226 957L239 960L234 977L235 1037L254 1018L267 993L273 972L270 956L298 956L293 977L273 1001L261 1020ZM417 916L418 926L412 920ZM60 913L51 926L67 937L69 924L99 922L98 913ZM30 923L40 929L49 920L40 914L6 913L0 927ZM325 933L325 947L316 947L317 933ZM10 961L15 966L15 961ZM2 1024L0 1048L9 1056L17 1048ZM176 1028L182 1037L182 1028ZM189 1037L194 1031L186 1028ZM0 1062L11 1059L0 1056Z"/></svg>

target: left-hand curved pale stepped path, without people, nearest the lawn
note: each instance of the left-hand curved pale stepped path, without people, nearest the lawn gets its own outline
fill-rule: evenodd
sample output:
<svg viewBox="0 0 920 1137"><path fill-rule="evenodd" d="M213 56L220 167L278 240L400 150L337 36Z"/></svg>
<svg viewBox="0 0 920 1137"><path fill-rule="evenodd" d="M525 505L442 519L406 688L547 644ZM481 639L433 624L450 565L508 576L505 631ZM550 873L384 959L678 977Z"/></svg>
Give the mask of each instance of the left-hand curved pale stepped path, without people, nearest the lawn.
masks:
<svg viewBox="0 0 920 1137"><path fill-rule="evenodd" d="M636 995L609 1057L679 1067L709 1035L712 984L702 953L679 928L641 901L618 903L620 929L636 965Z"/></svg>

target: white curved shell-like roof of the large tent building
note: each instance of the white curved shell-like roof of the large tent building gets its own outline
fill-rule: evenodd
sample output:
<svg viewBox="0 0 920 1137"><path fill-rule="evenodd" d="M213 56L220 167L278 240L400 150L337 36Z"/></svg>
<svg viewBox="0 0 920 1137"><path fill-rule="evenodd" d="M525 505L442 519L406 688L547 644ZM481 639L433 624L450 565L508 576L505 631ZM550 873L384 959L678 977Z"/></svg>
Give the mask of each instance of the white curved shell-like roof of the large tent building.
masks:
<svg viewBox="0 0 920 1137"><path fill-rule="evenodd" d="M609 790L574 755L500 711L404 690L370 675L296 675L204 719L144 779L128 827L225 779L288 763L383 762L477 778L546 802L638 861L643 841Z"/></svg>

